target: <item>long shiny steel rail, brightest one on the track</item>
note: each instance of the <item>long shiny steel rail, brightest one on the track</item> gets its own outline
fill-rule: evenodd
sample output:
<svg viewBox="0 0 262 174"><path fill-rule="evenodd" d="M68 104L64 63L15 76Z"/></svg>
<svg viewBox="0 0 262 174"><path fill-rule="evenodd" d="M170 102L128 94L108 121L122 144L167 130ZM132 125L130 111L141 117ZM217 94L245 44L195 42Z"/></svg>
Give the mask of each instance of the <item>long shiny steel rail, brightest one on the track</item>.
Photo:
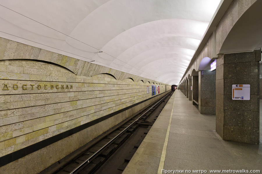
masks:
<svg viewBox="0 0 262 174"><path fill-rule="evenodd" d="M170 92L171 93L171 92ZM165 97L167 97L170 93L165 95L159 102L161 102ZM157 105L159 102L157 102L155 105ZM154 106L155 106L154 105ZM87 164L89 164L89 160L93 158L97 153L99 153L105 146L107 146L109 143L111 143L114 139L116 139L119 135L121 135L126 129L128 129L131 125L133 125L135 122L137 122L138 119L140 119L143 115L145 115L149 110L151 110L154 106L152 106L150 109L148 109L144 114L142 114L140 117L138 117L134 122L132 122L128 127L126 127L123 131L121 131L118 135L116 135L113 139L111 139L107 144L105 144L103 147L101 147L98 151L96 151L91 157L86 159L84 162L82 162L79 166L77 166L73 171L71 171L69 174L77 173L79 170L82 170Z"/></svg>

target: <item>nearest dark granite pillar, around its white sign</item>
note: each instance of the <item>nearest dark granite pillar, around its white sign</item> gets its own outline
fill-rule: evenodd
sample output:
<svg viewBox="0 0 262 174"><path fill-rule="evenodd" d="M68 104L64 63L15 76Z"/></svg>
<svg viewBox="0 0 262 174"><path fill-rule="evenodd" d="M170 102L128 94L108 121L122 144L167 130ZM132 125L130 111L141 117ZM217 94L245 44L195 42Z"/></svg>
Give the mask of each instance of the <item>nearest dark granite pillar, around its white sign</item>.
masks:
<svg viewBox="0 0 262 174"><path fill-rule="evenodd" d="M259 61L261 49L217 59L216 131L224 140L259 143ZM233 100L234 84L249 84L250 100Z"/></svg>

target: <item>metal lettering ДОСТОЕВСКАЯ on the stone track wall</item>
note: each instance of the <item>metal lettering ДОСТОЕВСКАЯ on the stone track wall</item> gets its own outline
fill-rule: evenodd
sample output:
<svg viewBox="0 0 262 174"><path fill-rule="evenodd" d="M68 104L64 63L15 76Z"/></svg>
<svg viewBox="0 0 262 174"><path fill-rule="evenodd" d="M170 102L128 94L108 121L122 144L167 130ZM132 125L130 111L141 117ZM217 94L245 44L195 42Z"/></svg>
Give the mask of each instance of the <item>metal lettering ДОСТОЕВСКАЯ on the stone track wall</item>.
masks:
<svg viewBox="0 0 262 174"><path fill-rule="evenodd" d="M8 84L5 84L4 87L3 87L3 90L9 90L10 86ZM13 84L12 88L14 90L17 90L18 89L18 85L17 84ZM54 84L54 85L34 85L34 84L30 84L30 85L27 85L27 84L23 84L22 85L22 88L23 90L28 90L28 89L73 89L73 85L59 85L59 84Z"/></svg>

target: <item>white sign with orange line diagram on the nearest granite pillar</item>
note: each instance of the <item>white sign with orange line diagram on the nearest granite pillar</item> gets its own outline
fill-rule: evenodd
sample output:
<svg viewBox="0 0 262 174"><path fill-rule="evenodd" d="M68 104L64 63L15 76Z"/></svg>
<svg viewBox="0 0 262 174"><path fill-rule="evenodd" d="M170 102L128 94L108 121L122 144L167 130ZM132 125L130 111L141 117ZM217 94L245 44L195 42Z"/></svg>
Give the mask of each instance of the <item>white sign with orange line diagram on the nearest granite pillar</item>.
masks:
<svg viewBox="0 0 262 174"><path fill-rule="evenodd" d="M250 85L232 85L233 100L250 100Z"/></svg>

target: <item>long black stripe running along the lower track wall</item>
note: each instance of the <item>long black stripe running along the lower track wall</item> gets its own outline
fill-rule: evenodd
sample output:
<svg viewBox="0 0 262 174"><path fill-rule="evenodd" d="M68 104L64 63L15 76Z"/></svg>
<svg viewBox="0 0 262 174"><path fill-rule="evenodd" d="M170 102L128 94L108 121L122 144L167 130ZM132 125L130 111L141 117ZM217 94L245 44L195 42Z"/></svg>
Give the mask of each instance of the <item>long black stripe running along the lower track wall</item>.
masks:
<svg viewBox="0 0 262 174"><path fill-rule="evenodd" d="M167 92L169 92L169 91L167 91ZM167 93L167 92L164 92L164 93ZM162 94L164 94L164 93L162 93ZM44 148L44 147L46 147L46 146L49 146L50 144L53 144L53 143L55 143L55 142L58 142L58 141L61 140L61 139L64 139L64 138L66 138L66 137L69 137L70 135L73 135L73 134L75 134L75 133L77 133L77 132L79 132L79 131L82 131L82 130L90 127L90 126L93 126L93 125L95 125L95 124L97 124L97 123L99 123L99 122L102 122L102 121L104 121L104 120L106 120L106 119L108 119L108 118L110 118L110 117L113 117L114 115L117 115L117 114L119 114L119 113L121 113L121 112L124 112L125 110L128 110L128 109L130 109L130 108L132 108L132 107L134 107L134 106L137 106L137 105L139 105L139 104L141 104L141 103L144 103L144 102L146 102L146 101L148 101L148 100L150 100L150 99L153 99L154 97L157 97L157 96L159 96L159 95L155 95L155 96L153 96L153 97L151 97L151 98L148 98L148 99L146 99L146 100L143 100L143 101L141 101L141 102L138 102L138 103L136 103L136 104L133 104L133 105L131 105L131 106L128 106L128 107L126 107L126 108L120 109L120 110L118 110L118 111L116 111L116 112L113 112L113 113L111 113L111 114L105 115L105 116L100 117L100 118L98 118L98 119L95 119L95 120L93 120L93 121L91 121L91 122L82 124L82 125L80 125L80 126L77 126L77 127L75 127L75 128L72 128L72 129L70 129L70 130L68 130L68 131L65 131L65 132L63 132L63 133L60 133L60 134L58 134L58 135L54 135L53 137L44 139L43 141L37 142L37 143L35 143L35 144L32 144L32 145L27 146L27 147L25 147L25 148L22 148L22 149L20 149L20 150L18 150L18 151L15 151L15 152L9 153L8 155L2 156L2 157L0 157L0 167L4 166L4 165L6 165L6 164L8 164L8 163L10 163L10 162L13 162L13 161L15 161L15 160L18 160L18 159L20 159L20 158L22 158L22 157L24 157L24 156L26 156L26 155L29 155L30 153L33 153L33 152L35 152L35 151L38 151L38 150L40 150L41 148Z"/></svg>

